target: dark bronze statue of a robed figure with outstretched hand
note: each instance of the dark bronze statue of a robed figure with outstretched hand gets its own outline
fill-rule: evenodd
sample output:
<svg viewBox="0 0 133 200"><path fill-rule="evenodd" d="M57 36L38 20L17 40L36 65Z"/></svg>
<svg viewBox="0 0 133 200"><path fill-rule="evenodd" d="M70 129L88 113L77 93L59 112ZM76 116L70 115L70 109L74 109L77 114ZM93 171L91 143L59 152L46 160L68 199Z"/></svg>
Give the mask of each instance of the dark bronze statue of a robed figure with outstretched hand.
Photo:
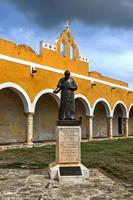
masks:
<svg viewBox="0 0 133 200"><path fill-rule="evenodd" d="M77 90L77 85L70 77L69 70L65 71L64 77L59 80L57 88L53 92L57 94L60 90L59 120L76 120L74 91Z"/></svg>

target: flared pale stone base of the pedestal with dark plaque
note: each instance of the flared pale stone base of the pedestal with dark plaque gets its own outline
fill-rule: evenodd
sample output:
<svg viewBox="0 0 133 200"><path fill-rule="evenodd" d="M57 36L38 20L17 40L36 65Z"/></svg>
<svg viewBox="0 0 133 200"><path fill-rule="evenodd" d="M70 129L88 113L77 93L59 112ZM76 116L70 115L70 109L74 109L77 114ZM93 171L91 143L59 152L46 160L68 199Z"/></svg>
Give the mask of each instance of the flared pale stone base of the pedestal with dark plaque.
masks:
<svg viewBox="0 0 133 200"><path fill-rule="evenodd" d="M65 168L64 172L62 172L63 168ZM70 168L74 171L71 171ZM75 171L75 169L78 171ZM55 179L61 182L83 183L85 179L89 178L89 169L82 164L60 165L51 163L49 165L49 176L50 179Z"/></svg>

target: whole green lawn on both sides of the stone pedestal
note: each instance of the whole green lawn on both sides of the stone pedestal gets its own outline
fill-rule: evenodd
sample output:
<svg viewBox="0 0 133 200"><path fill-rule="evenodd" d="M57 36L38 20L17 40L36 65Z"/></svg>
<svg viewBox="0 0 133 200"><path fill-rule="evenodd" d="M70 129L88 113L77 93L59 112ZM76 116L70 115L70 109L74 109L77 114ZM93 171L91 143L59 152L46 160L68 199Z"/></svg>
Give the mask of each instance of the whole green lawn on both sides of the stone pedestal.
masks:
<svg viewBox="0 0 133 200"><path fill-rule="evenodd" d="M111 177L133 183L133 139L82 143L82 163ZM0 152L0 168L47 168L55 160L55 145Z"/></svg>

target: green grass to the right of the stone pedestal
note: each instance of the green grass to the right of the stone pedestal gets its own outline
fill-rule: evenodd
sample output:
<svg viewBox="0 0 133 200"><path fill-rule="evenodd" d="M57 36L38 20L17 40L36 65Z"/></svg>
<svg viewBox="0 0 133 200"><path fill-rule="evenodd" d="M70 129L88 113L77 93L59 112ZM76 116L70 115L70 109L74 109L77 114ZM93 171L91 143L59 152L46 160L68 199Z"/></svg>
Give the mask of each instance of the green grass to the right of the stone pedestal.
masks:
<svg viewBox="0 0 133 200"><path fill-rule="evenodd" d="M82 163L109 176L133 183L133 139L82 144Z"/></svg>

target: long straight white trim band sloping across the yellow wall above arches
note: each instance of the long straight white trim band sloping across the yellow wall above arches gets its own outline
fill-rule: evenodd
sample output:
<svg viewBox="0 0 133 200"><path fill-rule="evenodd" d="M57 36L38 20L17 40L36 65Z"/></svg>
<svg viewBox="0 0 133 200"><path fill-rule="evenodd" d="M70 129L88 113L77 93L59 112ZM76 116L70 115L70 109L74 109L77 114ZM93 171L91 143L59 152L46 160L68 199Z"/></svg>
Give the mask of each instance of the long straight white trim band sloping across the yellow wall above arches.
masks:
<svg viewBox="0 0 133 200"><path fill-rule="evenodd" d="M39 68L39 69L52 71L52 72L59 73L59 74L64 74L64 70L60 70L58 68L40 65L38 63L33 63L33 62L26 61L26 60L13 58L13 57L6 56L6 55L3 55L3 54L0 54L0 59L7 60L7 61L10 61L10 62L15 62L15 63L22 64L22 65L27 65L27 66L30 66L30 67L36 67L36 68ZM117 88L121 88L121 89L124 89L124 90L133 91L133 89L130 89L128 87L121 86L121 85L114 84L114 83L110 83L110 82L103 81L103 80L100 80L100 79L92 78L92 77L89 77L89 76L84 76L84 75L76 74L76 73L71 73L71 75L73 77L77 77L77 78L80 78L80 79L84 79L84 80L88 80L88 81L95 81L97 83L109 85L111 87L117 87Z"/></svg>

